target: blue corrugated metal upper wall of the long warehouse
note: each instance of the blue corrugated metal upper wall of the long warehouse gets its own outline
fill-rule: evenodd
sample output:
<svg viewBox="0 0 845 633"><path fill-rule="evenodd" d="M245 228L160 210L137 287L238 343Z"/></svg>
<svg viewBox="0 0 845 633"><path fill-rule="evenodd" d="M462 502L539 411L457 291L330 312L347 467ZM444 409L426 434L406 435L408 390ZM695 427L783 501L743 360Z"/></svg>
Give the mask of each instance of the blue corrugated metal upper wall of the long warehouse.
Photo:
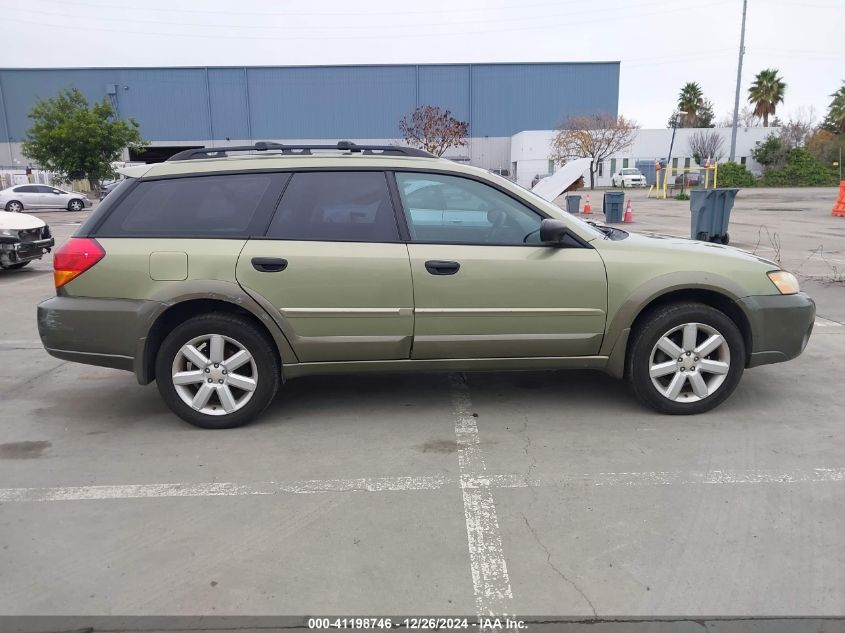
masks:
<svg viewBox="0 0 845 633"><path fill-rule="evenodd" d="M0 70L0 142L19 142L38 99L75 86L107 96L152 141L399 138L399 119L438 105L474 137L616 114L619 64L456 64Z"/></svg>

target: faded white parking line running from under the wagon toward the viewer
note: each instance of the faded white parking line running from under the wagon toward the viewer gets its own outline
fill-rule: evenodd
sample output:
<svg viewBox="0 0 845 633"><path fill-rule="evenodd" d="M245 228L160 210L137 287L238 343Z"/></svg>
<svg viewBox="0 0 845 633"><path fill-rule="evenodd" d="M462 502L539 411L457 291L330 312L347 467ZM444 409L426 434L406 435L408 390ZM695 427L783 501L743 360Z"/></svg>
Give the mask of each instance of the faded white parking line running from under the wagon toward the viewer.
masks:
<svg viewBox="0 0 845 633"><path fill-rule="evenodd" d="M487 466L479 445L478 426L472 415L472 400L462 374L451 374L449 383L476 611L481 616L510 613L508 605L513 599L513 592L493 491L484 478ZM475 482L472 486L467 485L470 478Z"/></svg>

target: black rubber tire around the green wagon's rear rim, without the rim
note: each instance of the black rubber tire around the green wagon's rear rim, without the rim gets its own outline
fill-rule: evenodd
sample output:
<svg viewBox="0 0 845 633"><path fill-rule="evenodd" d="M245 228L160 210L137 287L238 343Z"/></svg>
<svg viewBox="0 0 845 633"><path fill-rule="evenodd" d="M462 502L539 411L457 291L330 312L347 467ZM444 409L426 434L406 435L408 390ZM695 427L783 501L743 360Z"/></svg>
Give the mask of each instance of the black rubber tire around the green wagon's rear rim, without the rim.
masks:
<svg viewBox="0 0 845 633"><path fill-rule="evenodd" d="M258 372L251 399L228 414L209 415L192 408L182 400L173 384L173 363L179 350L192 339L209 334L221 334L237 341L252 355ZM178 325L164 339L156 357L156 382L162 399L180 418L204 429L231 429L252 421L273 401L280 377L272 338L248 319L225 312L200 315Z"/></svg>

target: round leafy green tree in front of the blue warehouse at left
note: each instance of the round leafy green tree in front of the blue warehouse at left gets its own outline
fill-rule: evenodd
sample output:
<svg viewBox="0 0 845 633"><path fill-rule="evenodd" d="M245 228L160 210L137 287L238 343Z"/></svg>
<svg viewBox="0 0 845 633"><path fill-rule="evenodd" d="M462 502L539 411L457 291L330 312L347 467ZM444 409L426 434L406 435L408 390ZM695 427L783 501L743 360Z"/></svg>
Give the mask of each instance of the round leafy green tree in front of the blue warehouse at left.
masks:
<svg viewBox="0 0 845 633"><path fill-rule="evenodd" d="M146 146L134 119L116 118L105 99L89 104L76 88L39 101L29 118L33 124L23 142L24 155L62 179L87 178L95 189L112 175L111 163L125 148Z"/></svg>

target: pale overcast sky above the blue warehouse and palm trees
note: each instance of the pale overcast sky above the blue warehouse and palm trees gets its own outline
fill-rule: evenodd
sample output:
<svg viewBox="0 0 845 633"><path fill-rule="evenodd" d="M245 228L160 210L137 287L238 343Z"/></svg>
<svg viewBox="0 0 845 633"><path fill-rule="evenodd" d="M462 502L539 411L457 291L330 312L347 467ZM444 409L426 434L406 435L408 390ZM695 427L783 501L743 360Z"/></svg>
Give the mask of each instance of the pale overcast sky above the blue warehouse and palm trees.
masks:
<svg viewBox="0 0 845 633"><path fill-rule="evenodd" d="M0 0L2 67L620 60L620 113L663 127L698 81L733 108L741 0ZM845 79L845 0L749 0L743 99L781 71L778 114Z"/></svg>

